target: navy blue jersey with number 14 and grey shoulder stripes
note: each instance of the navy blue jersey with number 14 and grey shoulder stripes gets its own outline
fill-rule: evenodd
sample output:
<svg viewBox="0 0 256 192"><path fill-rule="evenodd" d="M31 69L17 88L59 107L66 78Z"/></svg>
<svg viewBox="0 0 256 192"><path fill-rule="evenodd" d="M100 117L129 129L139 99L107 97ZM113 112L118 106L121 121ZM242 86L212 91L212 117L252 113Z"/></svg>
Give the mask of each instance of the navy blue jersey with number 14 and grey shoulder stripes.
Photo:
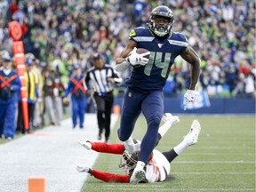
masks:
<svg viewBox="0 0 256 192"><path fill-rule="evenodd" d="M132 69L127 85L140 92L163 90L175 58L188 47L187 38L172 32L168 37L155 36L149 28L132 29L130 39L137 43L137 48L150 52L148 64Z"/></svg>

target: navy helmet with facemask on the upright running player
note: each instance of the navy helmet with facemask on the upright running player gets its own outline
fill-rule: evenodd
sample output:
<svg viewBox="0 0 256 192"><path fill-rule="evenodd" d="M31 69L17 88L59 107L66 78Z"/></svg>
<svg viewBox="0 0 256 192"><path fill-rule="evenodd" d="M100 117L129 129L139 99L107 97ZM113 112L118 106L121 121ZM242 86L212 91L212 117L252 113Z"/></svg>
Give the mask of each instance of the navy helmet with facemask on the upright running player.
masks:
<svg viewBox="0 0 256 192"><path fill-rule="evenodd" d="M164 28L163 26L156 28L156 17L167 18L169 20L167 28ZM152 10L152 12L150 12L148 28L150 28L156 34L156 36L166 36L167 34L169 34L171 32L173 23L174 18L172 10L169 9L167 6L157 6L155 9Z"/></svg>

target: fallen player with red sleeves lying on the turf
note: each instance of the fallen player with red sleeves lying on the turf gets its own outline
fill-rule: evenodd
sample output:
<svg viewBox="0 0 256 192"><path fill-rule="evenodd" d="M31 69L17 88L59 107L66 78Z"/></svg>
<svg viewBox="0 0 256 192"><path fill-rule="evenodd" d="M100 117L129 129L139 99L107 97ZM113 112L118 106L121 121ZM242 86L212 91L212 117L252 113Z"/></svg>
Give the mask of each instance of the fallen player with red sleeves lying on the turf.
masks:
<svg viewBox="0 0 256 192"><path fill-rule="evenodd" d="M164 134L174 125L180 122L179 116L172 116L172 114L164 114L163 117L164 124L159 127L157 140L159 141ZM172 160L180 155L180 153L189 146L195 145L199 133L201 131L201 125L197 120L194 120L191 124L191 128L179 145L172 148L170 151L160 152L156 149L153 150L151 156L148 158L148 164L145 166L145 177L142 177L140 182L158 182L164 181L167 175L171 172L171 162ZM158 143L157 141L157 143ZM137 164L138 156L140 156L140 141L132 140L135 148L129 146L124 146L124 144L108 144L104 142L92 142L86 141L79 143L88 150L94 150L100 153L111 153L122 155L121 163L119 167L124 168L124 175L110 173L110 172L100 172L93 170L86 165L76 165L76 170L78 172L90 173L93 177L104 180L106 182L130 182L132 172ZM132 145L131 142L131 145ZM157 145L157 144L156 144ZM131 146L130 146L131 147ZM129 151L130 150L130 151ZM144 175L144 174L143 174Z"/></svg>

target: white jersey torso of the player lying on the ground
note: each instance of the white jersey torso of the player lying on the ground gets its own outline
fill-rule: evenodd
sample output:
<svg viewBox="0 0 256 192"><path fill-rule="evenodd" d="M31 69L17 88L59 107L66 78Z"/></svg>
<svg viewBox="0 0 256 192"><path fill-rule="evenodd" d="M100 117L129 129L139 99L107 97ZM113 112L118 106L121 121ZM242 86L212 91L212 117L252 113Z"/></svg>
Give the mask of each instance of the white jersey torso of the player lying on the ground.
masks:
<svg viewBox="0 0 256 192"><path fill-rule="evenodd" d="M166 179L171 172L171 164L158 150L153 150L153 158L146 165L146 178L148 182L158 182Z"/></svg>

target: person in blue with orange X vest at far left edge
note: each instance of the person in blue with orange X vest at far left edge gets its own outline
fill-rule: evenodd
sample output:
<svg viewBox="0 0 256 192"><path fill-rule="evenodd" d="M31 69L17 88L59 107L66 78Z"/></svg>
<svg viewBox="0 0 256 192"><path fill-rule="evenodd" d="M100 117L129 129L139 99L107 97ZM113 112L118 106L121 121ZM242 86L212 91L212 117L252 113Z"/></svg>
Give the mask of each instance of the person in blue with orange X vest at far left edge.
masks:
<svg viewBox="0 0 256 192"><path fill-rule="evenodd" d="M12 140L15 134L15 114L18 94L20 92L20 77L12 69L12 59L9 55L2 58L3 68L0 70L0 136Z"/></svg>

